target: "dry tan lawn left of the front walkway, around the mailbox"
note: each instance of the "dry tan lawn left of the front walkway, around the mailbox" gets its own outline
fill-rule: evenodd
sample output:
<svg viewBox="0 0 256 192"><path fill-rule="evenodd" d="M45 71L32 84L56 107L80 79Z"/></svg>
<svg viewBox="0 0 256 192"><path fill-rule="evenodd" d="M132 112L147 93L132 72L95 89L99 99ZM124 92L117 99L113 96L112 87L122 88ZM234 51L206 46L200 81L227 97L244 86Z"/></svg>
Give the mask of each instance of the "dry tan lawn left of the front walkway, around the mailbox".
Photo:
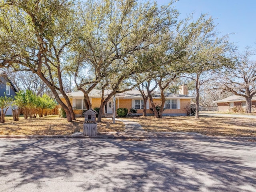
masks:
<svg viewBox="0 0 256 192"><path fill-rule="evenodd" d="M98 123L99 132L121 132L125 130L123 122L112 124L111 120L102 118ZM32 118L13 121L12 117L6 117L5 123L0 124L0 135L71 135L74 132L83 131L84 118L76 118L76 121L67 122L58 116Z"/></svg>

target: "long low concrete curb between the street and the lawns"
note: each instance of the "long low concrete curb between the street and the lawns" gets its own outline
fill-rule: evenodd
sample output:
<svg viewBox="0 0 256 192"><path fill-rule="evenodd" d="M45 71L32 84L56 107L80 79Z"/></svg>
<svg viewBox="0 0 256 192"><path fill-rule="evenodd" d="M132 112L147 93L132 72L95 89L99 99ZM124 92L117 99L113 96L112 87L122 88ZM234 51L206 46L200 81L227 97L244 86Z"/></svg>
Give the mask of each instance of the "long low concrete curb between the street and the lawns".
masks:
<svg viewBox="0 0 256 192"><path fill-rule="evenodd" d="M97 136L84 136L84 135L0 135L0 139L171 139L171 140L233 140L233 141L256 141L256 137L225 137L225 136L205 136L200 134L191 133L148 133L147 136L130 136L130 135L97 135Z"/></svg>

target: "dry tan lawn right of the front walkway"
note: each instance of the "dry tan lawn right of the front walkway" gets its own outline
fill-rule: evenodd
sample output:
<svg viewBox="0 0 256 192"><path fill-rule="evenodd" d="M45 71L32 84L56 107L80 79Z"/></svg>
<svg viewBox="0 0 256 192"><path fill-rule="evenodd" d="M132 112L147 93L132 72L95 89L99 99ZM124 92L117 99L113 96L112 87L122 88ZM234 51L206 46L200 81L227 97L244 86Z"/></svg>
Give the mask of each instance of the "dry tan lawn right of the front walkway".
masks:
<svg viewBox="0 0 256 192"><path fill-rule="evenodd" d="M200 116L129 117L148 132L196 132L208 136L256 136L256 119Z"/></svg>

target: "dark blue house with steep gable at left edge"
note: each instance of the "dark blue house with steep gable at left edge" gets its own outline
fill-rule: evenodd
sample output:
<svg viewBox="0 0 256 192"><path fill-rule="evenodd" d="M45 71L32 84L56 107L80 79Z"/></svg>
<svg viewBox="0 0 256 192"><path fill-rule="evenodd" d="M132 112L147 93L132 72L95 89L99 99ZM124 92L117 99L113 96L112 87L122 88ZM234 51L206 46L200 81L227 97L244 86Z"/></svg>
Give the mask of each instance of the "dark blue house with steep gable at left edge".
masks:
<svg viewBox="0 0 256 192"><path fill-rule="evenodd" d="M0 96L14 97L18 90L8 78L6 72L0 72ZM9 106L6 115L12 115L12 108Z"/></svg>

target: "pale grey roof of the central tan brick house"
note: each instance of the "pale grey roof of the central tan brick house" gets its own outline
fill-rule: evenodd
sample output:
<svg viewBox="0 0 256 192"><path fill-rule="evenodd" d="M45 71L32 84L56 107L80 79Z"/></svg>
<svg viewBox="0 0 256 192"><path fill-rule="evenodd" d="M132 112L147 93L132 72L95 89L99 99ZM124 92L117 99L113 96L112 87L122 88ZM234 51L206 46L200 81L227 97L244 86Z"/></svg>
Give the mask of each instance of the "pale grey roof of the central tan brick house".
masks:
<svg viewBox="0 0 256 192"><path fill-rule="evenodd" d="M110 94L112 92L112 90L104 90L104 97L107 97L108 94ZM145 92L147 93L147 92ZM88 96L90 98L101 98L101 94L102 94L102 90L97 90L97 89L93 89ZM67 93L69 98L84 98L84 93L82 91L76 91L76 92L70 92ZM63 98L62 94L59 95L60 98ZM167 99L174 99L174 98L183 98L183 99L192 99L195 98L193 96L188 96L188 95L181 95L181 94L174 94L174 93L166 93L165 94ZM160 92L153 92L152 93L152 97L153 98L160 98L161 97L161 93ZM140 94L139 90L130 90L130 91L126 91L123 93L118 93L116 94L116 98L122 98L122 99L141 99L142 96Z"/></svg>

